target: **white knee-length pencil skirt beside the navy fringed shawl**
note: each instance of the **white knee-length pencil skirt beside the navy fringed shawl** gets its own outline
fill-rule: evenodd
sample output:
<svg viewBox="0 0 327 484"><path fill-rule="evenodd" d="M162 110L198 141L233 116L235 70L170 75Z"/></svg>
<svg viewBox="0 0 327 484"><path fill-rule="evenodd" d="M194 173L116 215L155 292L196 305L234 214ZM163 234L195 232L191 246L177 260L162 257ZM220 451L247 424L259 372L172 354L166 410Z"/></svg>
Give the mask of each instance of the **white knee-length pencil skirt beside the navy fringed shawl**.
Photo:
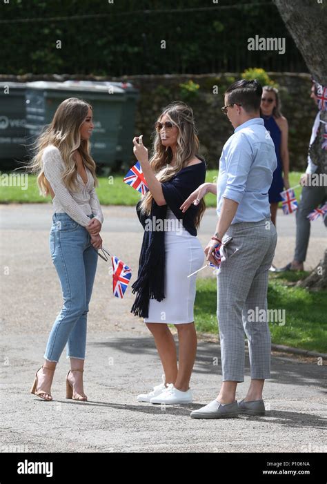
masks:
<svg viewBox="0 0 327 484"><path fill-rule="evenodd" d="M168 209L167 219L177 219ZM197 274L188 275L204 265L204 249L197 237L184 227L165 231L165 298L150 299L149 315L144 322L181 325L194 321L195 281Z"/></svg>

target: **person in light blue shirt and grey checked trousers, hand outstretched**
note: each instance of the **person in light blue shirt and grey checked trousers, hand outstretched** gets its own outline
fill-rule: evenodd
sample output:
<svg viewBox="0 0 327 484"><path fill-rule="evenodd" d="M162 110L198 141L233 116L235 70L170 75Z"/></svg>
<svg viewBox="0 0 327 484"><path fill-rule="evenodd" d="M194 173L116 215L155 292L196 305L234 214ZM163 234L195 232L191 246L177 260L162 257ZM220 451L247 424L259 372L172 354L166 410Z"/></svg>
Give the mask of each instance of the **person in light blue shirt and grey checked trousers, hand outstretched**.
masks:
<svg viewBox="0 0 327 484"><path fill-rule="evenodd" d="M181 210L186 211L206 193L217 193L217 226L204 252L208 262L219 266L217 318L222 383L217 398L194 410L192 418L265 413L262 391L264 381L270 378L271 353L268 269L277 244L268 190L277 158L273 140L260 117L261 95L262 88L256 80L236 81L226 90L221 110L235 133L221 153L217 184L200 185L181 205ZM216 249L220 251L220 263L215 258ZM246 397L238 403L237 383L244 381L244 332L248 338L251 383Z"/></svg>

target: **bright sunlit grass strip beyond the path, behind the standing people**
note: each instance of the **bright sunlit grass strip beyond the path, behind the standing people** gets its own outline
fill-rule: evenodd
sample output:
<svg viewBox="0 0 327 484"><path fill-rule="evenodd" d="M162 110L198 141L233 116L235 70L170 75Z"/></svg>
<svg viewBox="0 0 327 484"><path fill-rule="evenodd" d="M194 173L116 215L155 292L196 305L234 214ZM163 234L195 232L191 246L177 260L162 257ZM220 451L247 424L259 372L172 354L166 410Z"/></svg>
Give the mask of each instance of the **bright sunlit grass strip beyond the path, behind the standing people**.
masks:
<svg viewBox="0 0 327 484"><path fill-rule="evenodd" d="M19 172L14 172L19 173ZM206 181L217 182L217 171L208 170ZM290 186L295 186L299 183L301 173L293 171L290 173ZM5 173L0 175L0 203L47 203L50 202L51 197L41 197L37 187L36 177L28 175L28 188L23 190L22 180L21 186L6 186ZM19 184L18 181L16 184ZM301 187L295 190L295 195L299 200ZM97 188L97 195L101 205L135 205L140 198L140 193L130 188L130 186L123 183L122 175L112 175L110 177L99 177L99 187ZM206 205L216 206L215 195L209 193L206 195Z"/></svg>

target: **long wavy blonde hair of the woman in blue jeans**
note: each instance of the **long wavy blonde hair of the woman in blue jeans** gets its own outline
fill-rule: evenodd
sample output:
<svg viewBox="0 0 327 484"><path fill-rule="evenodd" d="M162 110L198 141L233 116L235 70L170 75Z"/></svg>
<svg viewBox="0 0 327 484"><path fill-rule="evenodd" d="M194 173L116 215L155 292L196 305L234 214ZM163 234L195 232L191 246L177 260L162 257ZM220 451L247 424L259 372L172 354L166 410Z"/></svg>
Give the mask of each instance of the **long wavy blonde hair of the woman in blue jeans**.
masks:
<svg viewBox="0 0 327 484"><path fill-rule="evenodd" d="M98 186L95 175L96 164L90 155L90 143L88 139L81 139L79 129L88 116L88 109L91 108L88 102L77 97L70 97L59 104L52 122L45 126L32 145L34 156L27 168L30 173L37 174L37 184L40 195L47 196L50 193L50 186L43 173L42 155L49 145L56 146L63 158L64 170L62 174L63 184L69 191L77 190L77 164L73 157L74 151L79 151L83 163L90 170Z"/></svg>

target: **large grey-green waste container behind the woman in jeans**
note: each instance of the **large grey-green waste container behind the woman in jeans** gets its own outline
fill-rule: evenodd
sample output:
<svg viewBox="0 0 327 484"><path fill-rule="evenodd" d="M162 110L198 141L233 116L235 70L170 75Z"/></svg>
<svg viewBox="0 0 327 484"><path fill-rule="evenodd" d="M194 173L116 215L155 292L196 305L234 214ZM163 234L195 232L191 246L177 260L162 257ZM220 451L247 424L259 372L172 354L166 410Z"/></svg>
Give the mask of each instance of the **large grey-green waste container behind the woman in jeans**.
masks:
<svg viewBox="0 0 327 484"><path fill-rule="evenodd" d="M126 83L127 84L127 83ZM103 171L117 170L133 157L137 90L128 84L100 81L34 81L26 83L26 129L35 139L52 121L64 99L78 97L93 108L95 128L90 138L92 157ZM130 139L127 139L130 138ZM127 143L130 146L127 146Z"/></svg>

